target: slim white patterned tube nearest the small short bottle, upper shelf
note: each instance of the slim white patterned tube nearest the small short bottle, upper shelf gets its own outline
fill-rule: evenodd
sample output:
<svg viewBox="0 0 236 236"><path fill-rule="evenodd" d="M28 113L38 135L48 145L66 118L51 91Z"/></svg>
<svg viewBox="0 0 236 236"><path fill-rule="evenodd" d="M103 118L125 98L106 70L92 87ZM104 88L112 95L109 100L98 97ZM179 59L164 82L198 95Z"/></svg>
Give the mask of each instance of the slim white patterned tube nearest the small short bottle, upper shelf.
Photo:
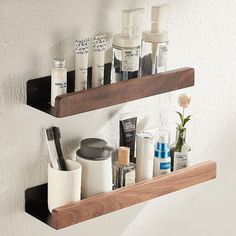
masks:
<svg viewBox="0 0 236 236"><path fill-rule="evenodd" d="M87 89L89 38L75 42L75 91Z"/></svg>

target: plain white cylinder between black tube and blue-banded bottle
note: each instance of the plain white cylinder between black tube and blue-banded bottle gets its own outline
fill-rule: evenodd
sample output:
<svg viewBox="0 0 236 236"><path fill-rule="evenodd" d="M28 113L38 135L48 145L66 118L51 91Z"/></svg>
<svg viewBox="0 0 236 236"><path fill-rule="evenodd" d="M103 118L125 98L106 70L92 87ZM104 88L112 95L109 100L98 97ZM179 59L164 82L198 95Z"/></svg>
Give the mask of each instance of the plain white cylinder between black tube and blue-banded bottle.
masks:
<svg viewBox="0 0 236 236"><path fill-rule="evenodd" d="M154 134L137 134L136 146L136 182L153 178Z"/></svg>

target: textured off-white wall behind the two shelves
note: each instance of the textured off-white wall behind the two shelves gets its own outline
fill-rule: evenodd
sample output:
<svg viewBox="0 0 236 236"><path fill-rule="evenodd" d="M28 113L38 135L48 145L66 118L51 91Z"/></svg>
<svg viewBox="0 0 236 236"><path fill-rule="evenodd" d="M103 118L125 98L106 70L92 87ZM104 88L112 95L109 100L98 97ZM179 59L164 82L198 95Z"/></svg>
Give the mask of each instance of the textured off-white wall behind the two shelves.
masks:
<svg viewBox="0 0 236 236"><path fill-rule="evenodd" d="M163 2L163 1L162 1ZM24 190L46 182L48 152L42 129L60 126L67 155L81 138L118 144L118 116L137 111L140 127L174 131L179 92L56 119L25 105L26 81L50 73L64 56L74 69L77 36L118 32L121 10L151 0L0 1L0 235L227 235L236 234L236 1L173 0L163 23L170 32L169 68L192 66L196 86L188 129L194 162L218 162L216 180L54 231L24 213ZM145 27L149 27L146 12Z"/></svg>

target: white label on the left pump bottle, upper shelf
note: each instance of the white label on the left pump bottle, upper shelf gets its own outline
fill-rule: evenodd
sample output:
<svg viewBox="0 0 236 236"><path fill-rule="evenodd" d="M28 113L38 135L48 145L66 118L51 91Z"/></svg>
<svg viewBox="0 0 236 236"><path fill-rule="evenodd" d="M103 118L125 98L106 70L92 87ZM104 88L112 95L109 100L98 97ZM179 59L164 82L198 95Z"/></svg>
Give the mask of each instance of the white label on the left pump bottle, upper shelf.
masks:
<svg viewBox="0 0 236 236"><path fill-rule="evenodd" d="M139 69L139 48L123 49L122 71L133 72Z"/></svg>

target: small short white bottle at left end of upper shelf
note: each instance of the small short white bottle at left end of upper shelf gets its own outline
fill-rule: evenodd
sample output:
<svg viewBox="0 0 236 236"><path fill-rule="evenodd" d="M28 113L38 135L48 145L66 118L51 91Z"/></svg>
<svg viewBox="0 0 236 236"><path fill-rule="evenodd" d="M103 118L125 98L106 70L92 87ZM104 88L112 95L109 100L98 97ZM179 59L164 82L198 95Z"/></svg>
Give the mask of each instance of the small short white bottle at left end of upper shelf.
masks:
<svg viewBox="0 0 236 236"><path fill-rule="evenodd" d="M65 59L54 59L51 75L51 106L55 107L55 98L67 91L67 70Z"/></svg>

